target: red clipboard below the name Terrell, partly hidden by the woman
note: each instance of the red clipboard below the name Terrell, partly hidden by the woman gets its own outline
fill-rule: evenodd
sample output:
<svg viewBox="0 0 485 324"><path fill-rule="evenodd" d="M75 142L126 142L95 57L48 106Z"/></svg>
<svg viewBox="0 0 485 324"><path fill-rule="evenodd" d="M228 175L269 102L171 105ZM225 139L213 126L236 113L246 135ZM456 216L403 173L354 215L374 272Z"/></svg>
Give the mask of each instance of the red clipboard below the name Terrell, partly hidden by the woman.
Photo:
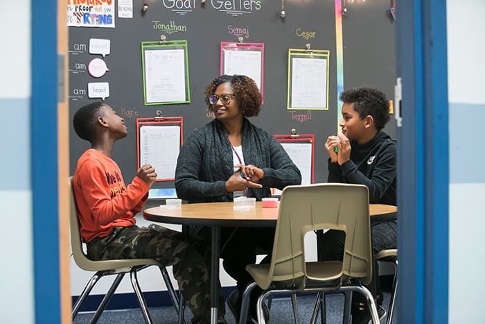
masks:
<svg viewBox="0 0 485 324"><path fill-rule="evenodd" d="M301 185L315 183L315 135L273 135L301 172ZM272 194L281 194L278 189L272 188Z"/></svg>

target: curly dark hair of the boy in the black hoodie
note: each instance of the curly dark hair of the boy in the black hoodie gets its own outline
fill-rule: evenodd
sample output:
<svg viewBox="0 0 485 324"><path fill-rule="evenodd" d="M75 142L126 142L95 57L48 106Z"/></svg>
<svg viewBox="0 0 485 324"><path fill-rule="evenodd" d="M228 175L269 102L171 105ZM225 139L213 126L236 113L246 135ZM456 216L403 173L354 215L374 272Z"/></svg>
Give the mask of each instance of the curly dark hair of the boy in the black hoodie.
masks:
<svg viewBox="0 0 485 324"><path fill-rule="evenodd" d="M353 110L359 113L360 119L371 115L378 130L389 121L389 101L384 92L373 87L349 89L340 94L344 103L353 103Z"/></svg>

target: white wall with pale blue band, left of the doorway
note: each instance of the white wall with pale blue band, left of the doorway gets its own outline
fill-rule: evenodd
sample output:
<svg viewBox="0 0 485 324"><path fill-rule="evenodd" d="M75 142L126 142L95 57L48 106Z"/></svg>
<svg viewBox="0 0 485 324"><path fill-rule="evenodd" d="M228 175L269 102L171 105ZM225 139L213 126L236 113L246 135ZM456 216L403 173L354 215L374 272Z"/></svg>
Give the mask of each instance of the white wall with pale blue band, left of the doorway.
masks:
<svg viewBox="0 0 485 324"><path fill-rule="evenodd" d="M28 324L34 323L30 1L1 1L0 12L0 323ZM12 110L21 120L6 118Z"/></svg>

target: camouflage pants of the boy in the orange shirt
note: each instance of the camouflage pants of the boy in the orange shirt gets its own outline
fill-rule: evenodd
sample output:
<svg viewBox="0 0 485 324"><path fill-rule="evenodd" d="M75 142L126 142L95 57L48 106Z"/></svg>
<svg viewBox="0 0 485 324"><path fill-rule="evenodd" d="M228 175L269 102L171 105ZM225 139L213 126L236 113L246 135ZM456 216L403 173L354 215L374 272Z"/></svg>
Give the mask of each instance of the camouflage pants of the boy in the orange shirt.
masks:
<svg viewBox="0 0 485 324"><path fill-rule="evenodd" d="M206 251L204 257L202 251ZM210 251L204 241L196 237L187 241L182 233L154 224L148 228L133 225L115 228L112 235L89 242L87 255L94 260L148 257L173 266L179 289L193 313L192 323L210 323ZM224 307L219 307L219 315L224 316Z"/></svg>

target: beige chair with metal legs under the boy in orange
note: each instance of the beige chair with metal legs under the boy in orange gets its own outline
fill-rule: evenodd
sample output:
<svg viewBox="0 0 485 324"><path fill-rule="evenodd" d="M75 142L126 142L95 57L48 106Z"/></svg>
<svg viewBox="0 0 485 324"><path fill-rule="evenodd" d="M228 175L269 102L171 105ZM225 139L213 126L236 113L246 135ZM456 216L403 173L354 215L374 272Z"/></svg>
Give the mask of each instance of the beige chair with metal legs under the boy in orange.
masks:
<svg viewBox="0 0 485 324"><path fill-rule="evenodd" d="M82 290L81 295L76 300L73 305L72 310L72 319L76 318L76 315L79 312L79 309L82 305L82 302L87 298L91 290L94 288L96 283L107 275L116 275L114 281L109 287L105 297L101 301L98 309L96 309L96 314L94 314L93 318L91 319L91 323L96 323L100 318L101 314L104 312L109 300L111 300L114 291L118 288L121 280L125 276L126 273L130 273L130 280L132 283L132 287L134 293L136 294L136 298L138 299L141 312L143 314L143 318L145 319L146 323L152 323L152 318L150 317L150 313L148 312L148 307L145 302L145 298L143 298L143 293L141 292L137 273L139 270L143 268L147 268L148 266L158 266L161 271L161 276L164 278L164 282L166 284L168 294L170 299L175 306L177 312L179 312L179 299L177 294L175 293L175 289L173 288L172 282L170 281L170 277L168 276L168 272L164 266L159 264L159 262L155 261L155 259L113 259L113 260L101 260L101 261L94 261L91 260L85 255L84 250L82 249L82 238L79 231L79 223L78 223L78 214L76 212L76 199L74 198L74 193L72 189L72 179L73 177L69 177L69 214L70 214L70 230L71 230L71 248L72 248L72 255L74 257L74 261L76 264L85 271L96 271L91 279L87 282L85 288ZM182 318L179 314L179 318ZM181 322L182 323L182 322Z"/></svg>

